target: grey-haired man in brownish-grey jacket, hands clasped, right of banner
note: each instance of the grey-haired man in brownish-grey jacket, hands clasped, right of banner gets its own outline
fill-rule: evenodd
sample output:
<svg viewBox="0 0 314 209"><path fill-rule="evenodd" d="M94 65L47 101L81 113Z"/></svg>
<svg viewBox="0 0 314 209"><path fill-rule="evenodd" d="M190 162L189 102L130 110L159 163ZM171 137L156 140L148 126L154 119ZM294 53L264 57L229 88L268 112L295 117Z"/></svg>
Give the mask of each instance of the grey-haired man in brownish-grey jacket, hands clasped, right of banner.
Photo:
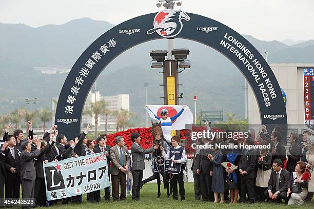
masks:
<svg viewBox="0 0 314 209"><path fill-rule="evenodd" d="M124 147L123 136L117 136L115 146L110 148L111 157L111 179L112 179L112 197L113 201L126 200L126 172L130 165L130 156L127 147ZM119 184L121 193L119 197Z"/></svg>

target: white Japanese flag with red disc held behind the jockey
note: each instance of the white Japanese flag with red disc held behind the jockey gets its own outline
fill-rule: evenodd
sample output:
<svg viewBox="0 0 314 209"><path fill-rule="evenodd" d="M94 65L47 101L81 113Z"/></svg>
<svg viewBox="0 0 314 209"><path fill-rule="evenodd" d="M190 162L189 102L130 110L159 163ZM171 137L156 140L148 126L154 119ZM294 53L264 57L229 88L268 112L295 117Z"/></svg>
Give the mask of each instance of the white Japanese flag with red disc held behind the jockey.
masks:
<svg viewBox="0 0 314 209"><path fill-rule="evenodd" d="M187 129L186 124L193 123L193 114L190 108L185 105L147 105L145 106L149 116L155 120L160 120L160 111L168 110L168 118L171 121L172 130Z"/></svg>

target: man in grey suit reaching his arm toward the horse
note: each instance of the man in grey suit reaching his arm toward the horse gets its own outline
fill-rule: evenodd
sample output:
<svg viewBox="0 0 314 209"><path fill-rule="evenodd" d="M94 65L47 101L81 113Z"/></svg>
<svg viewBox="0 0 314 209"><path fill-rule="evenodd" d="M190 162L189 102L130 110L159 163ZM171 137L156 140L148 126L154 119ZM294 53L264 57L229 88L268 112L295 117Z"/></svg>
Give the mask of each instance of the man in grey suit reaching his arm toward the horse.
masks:
<svg viewBox="0 0 314 209"><path fill-rule="evenodd" d="M131 140L133 142L131 146L132 154L132 176L133 176L133 185L132 185L132 199L140 200L140 188L143 179L143 170L145 169L145 163L143 154L151 153L158 148L158 145L154 145L149 149L143 149L140 146L141 137L137 132L131 134Z"/></svg>

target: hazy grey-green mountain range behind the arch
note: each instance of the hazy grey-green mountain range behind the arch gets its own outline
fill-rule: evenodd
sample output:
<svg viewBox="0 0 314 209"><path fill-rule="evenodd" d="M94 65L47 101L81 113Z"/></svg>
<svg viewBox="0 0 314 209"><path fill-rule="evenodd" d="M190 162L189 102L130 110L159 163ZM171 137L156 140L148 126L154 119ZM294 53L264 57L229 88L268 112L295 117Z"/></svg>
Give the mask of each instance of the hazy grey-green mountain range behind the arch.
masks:
<svg viewBox="0 0 314 209"><path fill-rule="evenodd" d="M67 74L41 74L34 67L71 68L82 52L114 25L90 18L72 20L63 25L32 28L24 24L0 24L0 114L8 114L25 105L25 98L38 98L33 108L51 108ZM268 52L269 63L313 63L314 40L300 43L289 40L264 41L243 35L260 53ZM291 45L291 43L293 45ZM289 46L291 45L291 46ZM227 58L199 43L175 39L176 48L190 50L191 68L179 74L181 104L194 110L223 110L244 117L244 77ZM162 103L161 69L151 69L149 50L167 49L164 39L133 47L115 58L97 78L102 95L130 94L130 110L138 115L135 126L144 126L145 88L149 82L148 103ZM263 53L262 53L263 54Z"/></svg>

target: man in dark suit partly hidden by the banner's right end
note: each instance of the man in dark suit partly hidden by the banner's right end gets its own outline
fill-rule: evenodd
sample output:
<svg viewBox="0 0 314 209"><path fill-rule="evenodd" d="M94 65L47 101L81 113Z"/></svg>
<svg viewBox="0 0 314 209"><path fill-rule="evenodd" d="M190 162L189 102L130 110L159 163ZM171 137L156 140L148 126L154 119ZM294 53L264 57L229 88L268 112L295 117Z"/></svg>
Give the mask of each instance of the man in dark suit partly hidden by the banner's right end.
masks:
<svg viewBox="0 0 314 209"><path fill-rule="evenodd" d="M97 147L94 148L94 153L101 153L101 152L104 152L106 153L106 157L107 157L107 165L108 165L108 176L109 176L109 179L110 179L110 162L111 162L111 157L110 157L110 146L106 144L107 142L107 135L106 134L101 134L100 137L98 137L96 139L96 142L98 144ZM96 194L96 198L97 198L97 201L100 201L100 190L97 191L97 194ZM108 187L105 188L105 200L106 201L110 201L110 185Z"/></svg>

